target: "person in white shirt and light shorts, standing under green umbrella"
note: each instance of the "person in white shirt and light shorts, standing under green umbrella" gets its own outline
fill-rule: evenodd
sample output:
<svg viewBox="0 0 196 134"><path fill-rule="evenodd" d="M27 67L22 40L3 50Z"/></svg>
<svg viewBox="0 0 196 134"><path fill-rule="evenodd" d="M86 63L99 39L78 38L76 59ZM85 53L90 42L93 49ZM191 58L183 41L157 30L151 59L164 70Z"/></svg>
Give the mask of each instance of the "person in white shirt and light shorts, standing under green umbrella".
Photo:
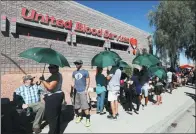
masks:
<svg viewBox="0 0 196 134"><path fill-rule="evenodd" d="M116 69L114 69L116 68ZM121 67L113 67L111 73L107 76L108 86L108 101L110 101L110 106L112 110L112 115L108 115L109 119L117 119L118 116L118 96L120 93L120 78L121 78Z"/></svg>

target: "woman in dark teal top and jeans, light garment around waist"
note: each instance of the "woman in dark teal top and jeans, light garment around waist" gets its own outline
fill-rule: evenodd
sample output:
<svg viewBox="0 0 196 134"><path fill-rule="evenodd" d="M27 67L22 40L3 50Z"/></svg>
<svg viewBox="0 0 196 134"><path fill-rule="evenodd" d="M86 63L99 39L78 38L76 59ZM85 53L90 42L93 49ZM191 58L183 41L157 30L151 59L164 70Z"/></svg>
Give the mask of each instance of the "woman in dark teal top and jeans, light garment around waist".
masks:
<svg viewBox="0 0 196 134"><path fill-rule="evenodd" d="M103 115L104 100L106 95L106 77L102 74L103 68L97 67L96 93L97 93L97 114Z"/></svg>

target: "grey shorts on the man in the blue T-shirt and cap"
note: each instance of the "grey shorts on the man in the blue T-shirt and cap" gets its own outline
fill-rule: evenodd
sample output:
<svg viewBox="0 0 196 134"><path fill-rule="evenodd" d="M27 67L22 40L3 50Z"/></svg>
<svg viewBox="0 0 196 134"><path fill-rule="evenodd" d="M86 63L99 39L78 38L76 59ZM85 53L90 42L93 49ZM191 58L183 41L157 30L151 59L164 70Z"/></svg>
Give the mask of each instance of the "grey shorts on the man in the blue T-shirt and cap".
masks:
<svg viewBox="0 0 196 134"><path fill-rule="evenodd" d="M85 92L77 92L75 96L75 109L89 109L87 94Z"/></svg>

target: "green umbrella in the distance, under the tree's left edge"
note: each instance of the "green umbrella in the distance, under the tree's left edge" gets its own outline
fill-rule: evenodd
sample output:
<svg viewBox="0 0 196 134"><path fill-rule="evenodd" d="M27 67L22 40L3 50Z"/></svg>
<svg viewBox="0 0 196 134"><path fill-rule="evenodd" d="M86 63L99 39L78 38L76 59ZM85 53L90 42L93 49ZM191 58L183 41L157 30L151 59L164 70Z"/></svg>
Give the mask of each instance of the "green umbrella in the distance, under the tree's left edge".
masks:
<svg viewBox="0 0 196 134"><path fill-rule="evenodd" d="M160 63L160 61L158 57L152 54L143 54L135 57L132 63L149 68L150 66Z"/></svg>

